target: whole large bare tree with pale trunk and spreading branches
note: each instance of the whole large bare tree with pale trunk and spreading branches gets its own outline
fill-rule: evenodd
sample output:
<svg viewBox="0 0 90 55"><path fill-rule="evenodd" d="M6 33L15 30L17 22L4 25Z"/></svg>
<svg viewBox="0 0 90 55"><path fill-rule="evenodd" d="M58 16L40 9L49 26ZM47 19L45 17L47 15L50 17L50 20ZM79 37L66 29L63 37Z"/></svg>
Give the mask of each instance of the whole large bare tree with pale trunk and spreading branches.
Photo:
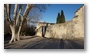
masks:
<svg viewBox="0 0 90 55"><path fill-rule="evenodd" d="M20 40L20 30L25 22L38 19L39 15L32 12L34 11L34 8L41 12L46 9L45 5L42 4L4 4L4 17L7 19L12 32L9 43Z"/></svg>

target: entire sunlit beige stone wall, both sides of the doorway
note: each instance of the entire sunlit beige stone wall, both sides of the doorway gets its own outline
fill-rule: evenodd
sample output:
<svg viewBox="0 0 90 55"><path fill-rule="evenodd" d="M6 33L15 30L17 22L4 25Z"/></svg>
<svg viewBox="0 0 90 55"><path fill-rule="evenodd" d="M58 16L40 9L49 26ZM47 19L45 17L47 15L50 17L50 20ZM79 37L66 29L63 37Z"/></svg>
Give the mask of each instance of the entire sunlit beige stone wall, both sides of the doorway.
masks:
<svg viewBox="0 0 90 55"><path fill-rule="evenodd" d="M42 36L42 28L38 28L37 36ZM45 37L47 38L80 38L84 37L84 5L76 12L73 20L62 24L49 25L46 28Z"/></svg>

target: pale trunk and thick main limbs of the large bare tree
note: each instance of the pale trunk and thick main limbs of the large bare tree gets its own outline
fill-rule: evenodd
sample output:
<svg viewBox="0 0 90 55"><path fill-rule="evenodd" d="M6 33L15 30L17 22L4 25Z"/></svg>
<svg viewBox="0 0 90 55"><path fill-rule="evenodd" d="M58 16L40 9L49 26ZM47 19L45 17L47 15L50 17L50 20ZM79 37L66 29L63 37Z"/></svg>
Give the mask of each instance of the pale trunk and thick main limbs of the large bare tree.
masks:
<svg viewBox="0 0 90 55"><path fill-rule="evenodd" d="M7 5L7 9L8 9L8 7L9 7L9 5ZM16 15L17 8L18 8L18 5L16 4L15 8L14 8L14 15L13 15L14 23L12 25L10 23L12 37L11 37L11 40L9 41L9 43L12 43L13 41L16 41L16 40L18 40L18 41L20 40L19 36L20 36L21 26L22 26L24 20L27 18L27 15L29 14L29 11L32 7L31 7L31 4L27 4L23 16L21 15L22 16L21 20L19 19L21 9L19 10L19 13L17 16ZM9 9L7 11L9 11ZM7 13L9 14L9 12L7 12ZM7 15L7 16L8 16L8 19L10 19L9 15ZM16 19L16 16L17 16L17 19ZM19 23L19 21L20 21L20 23Z"/></svg>

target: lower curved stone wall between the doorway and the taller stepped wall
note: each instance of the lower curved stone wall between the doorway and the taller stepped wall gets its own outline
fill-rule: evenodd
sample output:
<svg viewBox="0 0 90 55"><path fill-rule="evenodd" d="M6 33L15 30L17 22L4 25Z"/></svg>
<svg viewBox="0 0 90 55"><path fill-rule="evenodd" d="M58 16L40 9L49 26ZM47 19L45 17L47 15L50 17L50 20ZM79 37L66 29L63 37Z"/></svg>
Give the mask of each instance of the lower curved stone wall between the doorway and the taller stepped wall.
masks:
<svg viewBox="0 0 90 55"><path fill-rule="evenodd" d="M45 37L47 38L71 38L74 34L73 21L48 26Z"/></svg>

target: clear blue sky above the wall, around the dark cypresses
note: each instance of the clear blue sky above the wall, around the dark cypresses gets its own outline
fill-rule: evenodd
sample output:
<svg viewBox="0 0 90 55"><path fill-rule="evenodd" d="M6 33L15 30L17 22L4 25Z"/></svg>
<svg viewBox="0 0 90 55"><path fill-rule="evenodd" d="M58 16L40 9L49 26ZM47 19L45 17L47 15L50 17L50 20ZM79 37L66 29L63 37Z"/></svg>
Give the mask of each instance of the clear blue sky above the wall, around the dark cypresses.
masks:
<svg viewBox="0 0 90 55"><path fill-rule="evenodd" d="M50 6L47 6L40 21L56 23L58 12L61 12L61 10L64 11L66 21L72 20L75 16L74 12L81 6L82 4L51 4Z"/></svg>

